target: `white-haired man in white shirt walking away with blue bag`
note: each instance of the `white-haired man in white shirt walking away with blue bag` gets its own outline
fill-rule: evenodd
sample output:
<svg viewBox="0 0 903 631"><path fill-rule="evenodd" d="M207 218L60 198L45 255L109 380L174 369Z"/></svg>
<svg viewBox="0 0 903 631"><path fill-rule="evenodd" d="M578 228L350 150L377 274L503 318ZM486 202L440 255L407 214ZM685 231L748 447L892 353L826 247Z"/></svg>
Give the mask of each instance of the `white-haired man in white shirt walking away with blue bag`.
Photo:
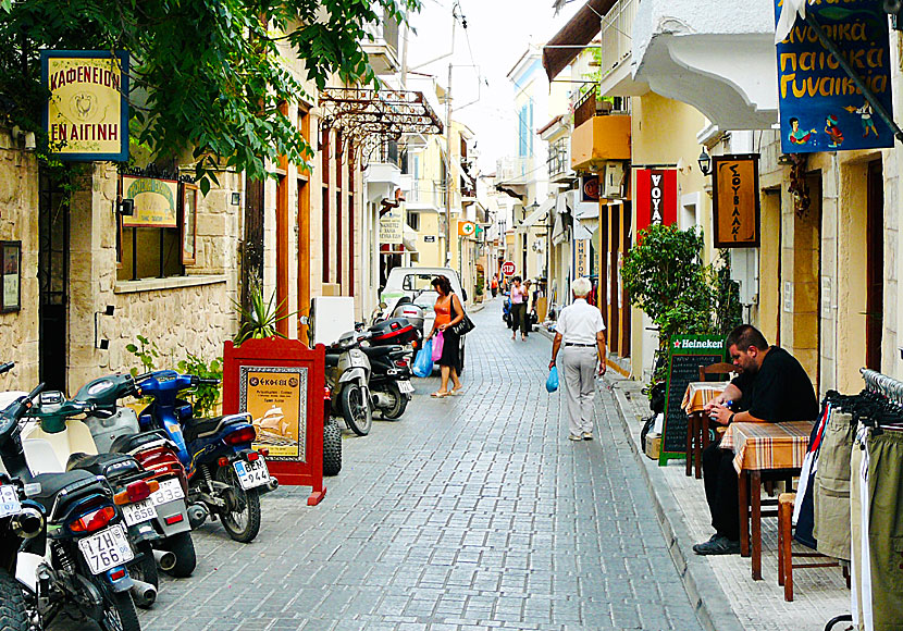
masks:
<svg viewBox="0 0 903 631"><path fill-rule="evenodd" d="M574 301L561 310L552 343L552 361L557 362L561 344L565 351L559 370L568 404L568 438L593 440L595 413L595 372L605 374L605 323L598 309L586 302L593 285L587 279L571 283Z"/></svg>

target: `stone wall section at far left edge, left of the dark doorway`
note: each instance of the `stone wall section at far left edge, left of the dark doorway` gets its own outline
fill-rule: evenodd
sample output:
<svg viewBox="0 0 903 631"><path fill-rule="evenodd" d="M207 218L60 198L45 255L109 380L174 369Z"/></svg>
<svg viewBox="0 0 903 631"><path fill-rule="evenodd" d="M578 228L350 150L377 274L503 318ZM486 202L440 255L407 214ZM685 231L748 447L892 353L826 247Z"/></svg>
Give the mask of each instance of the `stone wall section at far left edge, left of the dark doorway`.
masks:
<svg viewBox="0 0 903 631"><path fill-rule="evenodd" d="M16 367L0 376L0 389L38 382L38 163L21 146L21 137L0 127L0 240L22 242L22 309L0 313L0 361Z"/></svg>

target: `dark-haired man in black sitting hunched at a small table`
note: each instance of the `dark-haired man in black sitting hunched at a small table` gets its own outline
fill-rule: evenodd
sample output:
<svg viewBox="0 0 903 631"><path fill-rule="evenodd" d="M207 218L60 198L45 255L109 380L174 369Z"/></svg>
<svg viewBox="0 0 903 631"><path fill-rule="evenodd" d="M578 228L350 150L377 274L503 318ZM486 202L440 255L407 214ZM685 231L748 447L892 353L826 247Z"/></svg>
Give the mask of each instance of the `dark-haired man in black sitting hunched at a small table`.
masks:
<svg viewBox="0 0 903 631"><path fill-rule="evenodd" d="M740 375L705 407L718 423L782 423L818 417L818 400L806 371L787 350L769 346L762 333L741 324L728 335L728 354ZM731 409L733 408L733 409ZM745 411L740 411L745 410ZM713 443L703 451L705 496L715 534L697 543L698 555L740 553L740 506L733 451Z"/></svg>

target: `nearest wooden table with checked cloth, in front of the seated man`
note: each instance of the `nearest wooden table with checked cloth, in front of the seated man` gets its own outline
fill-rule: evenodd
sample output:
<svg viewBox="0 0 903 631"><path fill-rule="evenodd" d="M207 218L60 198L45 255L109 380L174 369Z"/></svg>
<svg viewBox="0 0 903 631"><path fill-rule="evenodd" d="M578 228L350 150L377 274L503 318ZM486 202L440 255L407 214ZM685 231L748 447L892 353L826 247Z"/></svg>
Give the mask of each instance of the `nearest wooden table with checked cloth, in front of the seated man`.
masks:
<svg viewBox="0 0 903 631"><path fill-rule="evenodd" d="M740 475L740 548L743 556L752 556L756 581L762 580L763 478L790 480L800 474L812 426L812 421L733 423L721 438L721 448L734 453L733 466Z"/></svg>

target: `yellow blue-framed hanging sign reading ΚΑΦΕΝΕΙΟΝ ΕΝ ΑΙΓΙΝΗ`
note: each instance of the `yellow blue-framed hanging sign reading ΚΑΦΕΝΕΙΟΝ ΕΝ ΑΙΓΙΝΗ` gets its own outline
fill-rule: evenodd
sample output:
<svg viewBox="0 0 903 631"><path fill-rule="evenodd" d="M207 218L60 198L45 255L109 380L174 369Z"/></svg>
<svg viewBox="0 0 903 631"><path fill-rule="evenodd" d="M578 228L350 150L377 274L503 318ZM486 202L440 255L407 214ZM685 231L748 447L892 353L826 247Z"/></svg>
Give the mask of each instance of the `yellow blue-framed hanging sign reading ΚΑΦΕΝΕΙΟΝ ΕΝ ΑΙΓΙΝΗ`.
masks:
<svg viewBox="0 0 903 631"><path fill-rule="evenodd" d="M50 156L128 160L128 53L42 50L40 71L50 92L42 113Z"/></svg>

